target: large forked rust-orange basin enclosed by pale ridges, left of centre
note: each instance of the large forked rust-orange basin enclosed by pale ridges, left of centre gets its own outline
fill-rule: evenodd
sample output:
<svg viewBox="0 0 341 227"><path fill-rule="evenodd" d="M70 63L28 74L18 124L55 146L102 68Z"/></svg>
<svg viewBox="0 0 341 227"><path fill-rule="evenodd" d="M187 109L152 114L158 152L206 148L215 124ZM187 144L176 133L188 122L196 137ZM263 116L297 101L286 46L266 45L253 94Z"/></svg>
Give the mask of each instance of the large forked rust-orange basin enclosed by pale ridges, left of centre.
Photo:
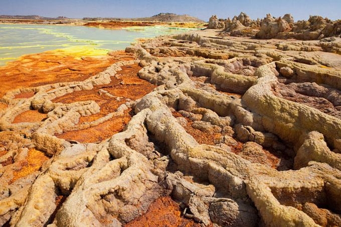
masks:
<svg viewBox="0 0 341 227"><path fill-rule="evenodd" d="M94 100L100 106L100 112L86 117L81 117L79 124L96 121L109 113L114 112L117 108L127 102L127 98L135 100L141 98L145 94L151 92L155 85L143 80L137 76L141 69L137 64L122 66L122 70L118 71L111 82L105 85L95 86L92 90L76 91L64 96L58 97L53 102L72 103L75 101ZM103 90L108 94L103 93ZM99 142L110 138L113 134L120 132L130 121L130 109L124 112L121 117L113 117L109 121L101 123L95 127L72 132L65 132L56 135L58 138L66 140L76 140L82 143Z"/></svg>

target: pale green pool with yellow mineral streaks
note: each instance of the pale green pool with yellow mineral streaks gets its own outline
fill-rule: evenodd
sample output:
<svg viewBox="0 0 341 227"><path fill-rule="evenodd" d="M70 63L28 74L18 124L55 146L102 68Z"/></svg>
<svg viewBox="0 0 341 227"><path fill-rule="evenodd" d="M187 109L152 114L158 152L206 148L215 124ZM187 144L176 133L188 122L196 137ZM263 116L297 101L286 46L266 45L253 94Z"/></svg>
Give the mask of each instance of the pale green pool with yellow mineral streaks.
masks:
<svg viewBox="0 0 341 227"><path fill-rule="evenodd" d="M131 27L119 30L63 25L0 25L0 66L24 54L76 48L105 54L122 50L137 38L181 33L191 29L164 26Z"/></svg>

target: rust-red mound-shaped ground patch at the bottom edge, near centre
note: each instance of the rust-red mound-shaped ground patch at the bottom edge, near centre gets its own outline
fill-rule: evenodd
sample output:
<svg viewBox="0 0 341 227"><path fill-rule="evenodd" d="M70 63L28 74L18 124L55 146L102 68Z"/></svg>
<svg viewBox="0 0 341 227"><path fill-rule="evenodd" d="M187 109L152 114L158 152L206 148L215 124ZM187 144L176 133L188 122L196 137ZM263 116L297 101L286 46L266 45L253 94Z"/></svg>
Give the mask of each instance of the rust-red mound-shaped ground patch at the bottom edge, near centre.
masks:
<svg viewBox="0 0 341 227"><path fill-rule="evenodd" d="M149 205L145 214L130 221L124 225L125 227L135 226L201 226L192 219L188 219L181 215L179 203L170 197L159 197Z"/></svg>

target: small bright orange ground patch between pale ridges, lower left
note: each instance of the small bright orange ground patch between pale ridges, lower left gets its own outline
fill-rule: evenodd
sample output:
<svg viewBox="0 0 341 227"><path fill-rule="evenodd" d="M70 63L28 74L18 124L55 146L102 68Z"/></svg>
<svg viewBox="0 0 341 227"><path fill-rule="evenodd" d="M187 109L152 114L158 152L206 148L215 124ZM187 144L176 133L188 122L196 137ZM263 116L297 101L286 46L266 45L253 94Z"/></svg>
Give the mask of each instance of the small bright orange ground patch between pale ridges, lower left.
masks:
<svg viewBox="0 0 341 227"><path fill-rule="evenodd" d="M36 149L29 150L27 159L25 161L20 161L19 163L22 168L13 173L13 179L10 183L39 170L47 160L49 160L49 158L43 152Z"/></svg>

